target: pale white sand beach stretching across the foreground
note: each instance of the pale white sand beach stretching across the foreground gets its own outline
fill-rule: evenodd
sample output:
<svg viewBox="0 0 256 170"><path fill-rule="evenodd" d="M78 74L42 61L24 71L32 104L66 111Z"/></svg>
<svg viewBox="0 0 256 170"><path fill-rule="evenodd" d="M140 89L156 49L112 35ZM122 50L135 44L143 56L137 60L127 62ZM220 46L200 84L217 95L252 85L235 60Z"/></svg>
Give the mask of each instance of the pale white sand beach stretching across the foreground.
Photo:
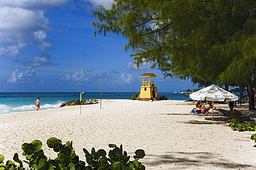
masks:
<svg viewBox="0 0 256 170"><path fill-rule="evenodd" d="M24 160L21 145L37 139L46 156L55 158L46 145L55 137L72 140L84 161L83 148L108 152L114 143L129 156L144 149L140 162L146 169L256 169L256 143L250 140L255 131L232 131L221 118L190 114L193 107L180 100L103 100L102 109L99 103L82 105L82 114L80 106L5 114L0 116L0 154L12 160L19 153Z"/></svg>

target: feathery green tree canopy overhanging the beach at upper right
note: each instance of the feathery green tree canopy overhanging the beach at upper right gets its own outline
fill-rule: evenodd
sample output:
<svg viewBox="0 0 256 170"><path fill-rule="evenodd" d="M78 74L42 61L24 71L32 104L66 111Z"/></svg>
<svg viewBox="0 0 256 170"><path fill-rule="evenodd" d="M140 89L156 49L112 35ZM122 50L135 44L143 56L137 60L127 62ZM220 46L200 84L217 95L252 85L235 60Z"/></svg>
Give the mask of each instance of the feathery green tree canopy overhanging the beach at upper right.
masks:
<svg viewBox="0 0 256 170"><path fill-rule="evenodd" d="M254 0L116 0L93 15L95 34L127 38L138 67L151 64L200 86L256 84ZM254 109L254 98L249 102Z"/></svg>

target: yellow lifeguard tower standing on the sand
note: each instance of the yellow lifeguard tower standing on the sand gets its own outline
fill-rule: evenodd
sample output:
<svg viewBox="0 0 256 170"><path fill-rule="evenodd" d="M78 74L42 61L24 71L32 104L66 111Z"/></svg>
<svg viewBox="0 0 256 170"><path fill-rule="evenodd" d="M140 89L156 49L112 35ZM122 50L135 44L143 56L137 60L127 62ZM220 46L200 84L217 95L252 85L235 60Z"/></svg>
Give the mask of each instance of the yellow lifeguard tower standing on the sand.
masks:
<svg viewBox="0 0 256 170"><path fill-rule="evenodd" d="M140 100L158 100L158 90L154 83L156 75L154 73L145 73L140 77L143 78L143 85L140 86ZM146 78L146 80L144 78ZM154 78L154 81L151 81L150 78Z"/></svg>

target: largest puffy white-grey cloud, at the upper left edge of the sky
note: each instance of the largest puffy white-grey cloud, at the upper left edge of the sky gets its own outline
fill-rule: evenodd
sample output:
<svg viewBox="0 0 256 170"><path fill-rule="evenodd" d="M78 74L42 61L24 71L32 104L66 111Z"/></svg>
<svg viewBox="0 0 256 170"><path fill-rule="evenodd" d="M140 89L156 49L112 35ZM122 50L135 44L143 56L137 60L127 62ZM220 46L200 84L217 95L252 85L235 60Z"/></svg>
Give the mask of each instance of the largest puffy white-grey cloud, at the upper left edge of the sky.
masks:
<svg viewBox="0 0 256 170"><path fill-rule="evenodd" d="M0 8L0 43L24 43L38 30L47 30L49 20L42 10Z"/></svg>

